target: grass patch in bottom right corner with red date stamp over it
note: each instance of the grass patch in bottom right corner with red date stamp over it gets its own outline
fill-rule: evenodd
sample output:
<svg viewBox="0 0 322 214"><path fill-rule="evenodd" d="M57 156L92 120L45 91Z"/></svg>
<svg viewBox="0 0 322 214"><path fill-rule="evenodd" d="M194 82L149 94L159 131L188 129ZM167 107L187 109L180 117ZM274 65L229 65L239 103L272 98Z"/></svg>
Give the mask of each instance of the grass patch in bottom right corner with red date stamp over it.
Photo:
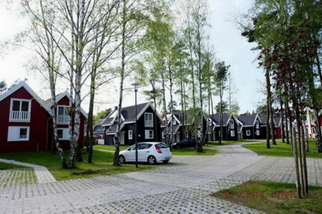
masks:
<svg viewBox="0 0 322 214"><path fill-rule="evenodd" d="M248 181L212 196L266 213L322 213L322 187L309 186L309 195L301 199L295 189L295 184Z"/></svg>

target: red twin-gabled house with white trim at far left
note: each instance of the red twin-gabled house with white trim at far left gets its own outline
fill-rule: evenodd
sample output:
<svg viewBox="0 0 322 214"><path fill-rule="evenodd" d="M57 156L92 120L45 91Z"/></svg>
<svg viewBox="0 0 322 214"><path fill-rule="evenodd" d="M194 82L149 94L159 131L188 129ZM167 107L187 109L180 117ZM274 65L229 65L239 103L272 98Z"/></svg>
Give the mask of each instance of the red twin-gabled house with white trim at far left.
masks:
<svg viewBox="0 0 322 214"><path fill-rule="evenodd" d="M58 136L63 148L68 148L68 92L57 96ZM44 102L25 82L11 87L0 96L0 152L50 150L52 115L50 100ZM84 146L87 114L82 110L79 146Z"/></svg>

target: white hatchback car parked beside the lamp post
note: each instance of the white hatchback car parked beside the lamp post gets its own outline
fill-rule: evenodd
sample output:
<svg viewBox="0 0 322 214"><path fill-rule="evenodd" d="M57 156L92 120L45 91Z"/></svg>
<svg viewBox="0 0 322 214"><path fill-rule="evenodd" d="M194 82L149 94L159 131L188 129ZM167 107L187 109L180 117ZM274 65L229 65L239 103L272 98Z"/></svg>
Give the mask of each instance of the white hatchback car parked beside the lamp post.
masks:
<svg viewBox="0 0 322 214"><path fill-rule="evenodd" d="M158 161L168 163L172 158L170 148L159 142L144 142L137 144L137 159L138 162L147 162L151 165ZM128 149L121 151L119 155L119 162L134 162L135 161L135 144Z"/></svg>

